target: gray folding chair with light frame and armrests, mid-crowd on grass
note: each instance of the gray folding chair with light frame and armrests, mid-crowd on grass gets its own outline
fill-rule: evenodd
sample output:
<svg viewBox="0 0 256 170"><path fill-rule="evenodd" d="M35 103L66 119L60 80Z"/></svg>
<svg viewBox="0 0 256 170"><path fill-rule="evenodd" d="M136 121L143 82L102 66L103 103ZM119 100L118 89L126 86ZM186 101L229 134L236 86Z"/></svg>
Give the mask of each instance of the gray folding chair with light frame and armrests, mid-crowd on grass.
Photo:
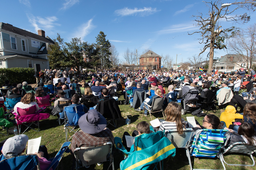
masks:
<svg viewBox="0 0 256 170"><path fill-rule="evenodd" d="M163 118L164 118L164 110L163 110L164 96L161 96L161 97L155 96L152 102L152 106L148 105L146 102L144 103L145 105L144 105L143 113L145 109L147 109L149 111L151 120L152 120L151 113L155 113L155 112L162 112ZM143 118L143 115L144 114L142 114L142 118Z"/></svg>

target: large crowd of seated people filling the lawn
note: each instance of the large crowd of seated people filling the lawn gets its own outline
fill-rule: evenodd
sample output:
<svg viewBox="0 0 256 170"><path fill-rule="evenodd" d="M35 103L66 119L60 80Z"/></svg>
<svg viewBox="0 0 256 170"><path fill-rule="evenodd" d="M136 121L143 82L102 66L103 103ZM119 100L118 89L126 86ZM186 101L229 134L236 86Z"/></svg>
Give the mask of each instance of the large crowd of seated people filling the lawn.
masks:
<svg viewBox="0 0 256 170"><path fill-rule="evenodd" d="M41 71L43 72L43 71ZM116 89L121 91L124 96L125 105L134 107L133 102L135 101L135 95L137 93L144 93L144 101L140 101L140 105L135 105L134 109L138 112L152 105L153 99L163 98L163 108L166 119L160 119L161 125L155 127L154 131L177 129L179 135L183 134L184 128L190 128L188 123L181 118L181 110L184 109L183 105L177 103L177 98L183 98L183 88L189 86L193 89L198 89L200 95L198 96L198 103L203 102L207 98L207 91L212 88L219 88L216 95L223 92L223 89L230 89L233 91L233 97L230 97L230 101L224 105L225 111L221 113L220 118L214 114L207 114L204 116L203 122L200 125L197 121L198 129L227 129L232 133L229 145L234 142L245 142L248 145L256 145L256 85L255 89L252 89L248 93L244 93L243 96L239 95L240 85L243 81L250 81L256 83L255 72L251 70L250 74L245 75L244 69L235 71L233 73L219 73L212 70L210 73L206 72L195 72L189 70L179 71L105 71L105 72L86 72L86 77L91 77L92 80L86 82L85 79L79 81L74 78L72 80L72 72L67 71L56 71L56 70L45 70L45 79L49 79L47 84L39 81L39 85L36 90L29 86L27 82L22 84L13 83L7 80L2 88L10 89L9 93L4 96L6 98L20 98L20 101L14 106L14 112L17 112L17 108L29 108L36 105L36 112L39 111L39 107L35 101L35 97L44 97L49 95L51 90L44 91L44 87L52 85L53 87L59 87L53 108L59 107L64 103L70 103L69 107L80 108L79 112L82 114L78 119L78 125L81 131L76 132L71 141L71 151L77 147L90 147L101 145L105 142L114 143L114 136L108 128L106 128L106 119L96 109L97 104L102 100L108 100L109 91ZM69 77L71 82L62 82L53 84L51 78ZM167 86L168 89L165 89ZM68 90L75 90L76 93L72 96L67 97ZM250 95L252 94L252 95ZM247 97L250 96L250 97ZM147 98L147 99L146 99ZM133 100L132 100L133 99ZM147 104L147 105L146 105ZM237 113L237 107L240 107L240 112ZM148 109L148 108L147 108ZM145 109L145 116L148 115L147 109ZM63 112L58 115L60 118L65 117L64 109ZM121 118L122 119L122 118ZM236 119L240 119L237 122ZM138 136L142 133L151 133L150 126L147 122L142 121L138 123L137 130L134 130L132 136ZM124 133L129 135L128 132ZM125 138L123 137L123 144L126 146ZM25 146L28 137L26 135L16 135L7 139L2 147L2 156L0 160L8 158L10 156L17 156L25 151ZM13 145L14 147L10 147ZM19 147L19 149L17 149ZM44 147L44 146L42 146ZM128 148L132 150L133 147ZM47 149L42 149L36 153L42 162L40 162L41 169L45 169L44 164L49 164L47 160ZM43 154L44 153L44 154ZM71 152L72 153L72 152ZM101 164L101 163L98 163ZM88 168L87 166L86 168Z"/></svg>

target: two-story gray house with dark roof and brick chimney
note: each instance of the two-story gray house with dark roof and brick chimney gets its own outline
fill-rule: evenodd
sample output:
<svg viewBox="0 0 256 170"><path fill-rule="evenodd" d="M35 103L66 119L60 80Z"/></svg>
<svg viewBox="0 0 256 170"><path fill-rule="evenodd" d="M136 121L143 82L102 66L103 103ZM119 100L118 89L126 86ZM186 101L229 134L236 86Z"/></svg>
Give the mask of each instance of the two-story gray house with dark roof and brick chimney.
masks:
<svg viewBox="0 0 256 170"><path fill-rule="evenodd" d="M43 30L37 35L0 23L0 68L34 68L34 64L40 64L41 69L49 69L47 47L53 43Z"/></svg>

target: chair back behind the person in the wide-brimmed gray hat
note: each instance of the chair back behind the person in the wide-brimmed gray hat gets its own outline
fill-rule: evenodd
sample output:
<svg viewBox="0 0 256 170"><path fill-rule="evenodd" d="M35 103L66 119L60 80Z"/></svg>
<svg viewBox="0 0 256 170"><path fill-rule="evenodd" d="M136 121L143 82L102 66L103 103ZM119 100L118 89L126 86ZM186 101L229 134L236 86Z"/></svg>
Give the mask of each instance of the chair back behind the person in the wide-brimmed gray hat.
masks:
<svg viewBox="0 0 256 170"><path fill-rule="evenodd" d="M114 170L112 147L112 142L106 142L99 146L76 148L73 151L76 161L76 170L80 169L81 166L84 167L106 161L109 161L109 167L112 165L112 169Z"/></svg>

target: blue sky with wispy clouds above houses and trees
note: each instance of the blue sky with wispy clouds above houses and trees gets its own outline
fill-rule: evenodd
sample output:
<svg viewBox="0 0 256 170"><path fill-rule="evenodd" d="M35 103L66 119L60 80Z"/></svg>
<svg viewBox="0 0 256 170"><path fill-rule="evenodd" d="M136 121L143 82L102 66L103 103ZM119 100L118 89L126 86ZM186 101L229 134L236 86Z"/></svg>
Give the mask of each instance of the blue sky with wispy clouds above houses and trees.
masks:
<svg viewBox="0 0 256 170"><path fill-rule="evenodd" d="M103 31L121 60L127 48L137 49L138 54L150 49L159 55L169 54L174 62L176 54L181 54L178 63L203 49L197 40L200 35L187 32L198 30L193 26L196 22L192 15L201 12L206 16L208 10L201 0L11 0L1 2L0 22L36 34L42 29L52 39L59 33L65 42L81 37L95 43L95 37ZM245 12L237 10L234 14ZM255 18L253 13L249 23L234 26L246 28L255 23ZM222 28L232 26L230 22L221 22ZM205 58L208 52L203 54ZM223 50L216 52L214 57L227 54Z"/></svg>

